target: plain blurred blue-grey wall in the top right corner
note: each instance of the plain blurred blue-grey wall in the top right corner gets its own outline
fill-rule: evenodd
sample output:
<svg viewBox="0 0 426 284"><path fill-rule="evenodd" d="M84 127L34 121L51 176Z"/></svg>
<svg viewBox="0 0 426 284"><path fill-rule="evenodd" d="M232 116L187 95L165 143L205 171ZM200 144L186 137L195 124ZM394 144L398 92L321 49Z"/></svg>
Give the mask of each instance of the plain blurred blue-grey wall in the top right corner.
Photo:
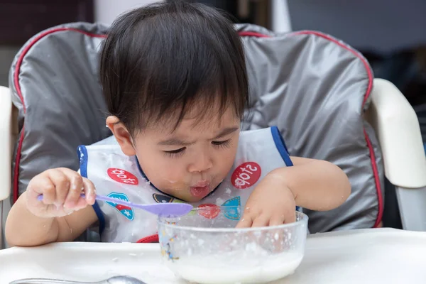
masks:
<svg viewBox="0 0 426 284"><path fill-rule="evenodd" d="M285 1L285 0L283 0ZM424 0L287 0L293 30L329 33L361 50L426 44Z"/></svg>

